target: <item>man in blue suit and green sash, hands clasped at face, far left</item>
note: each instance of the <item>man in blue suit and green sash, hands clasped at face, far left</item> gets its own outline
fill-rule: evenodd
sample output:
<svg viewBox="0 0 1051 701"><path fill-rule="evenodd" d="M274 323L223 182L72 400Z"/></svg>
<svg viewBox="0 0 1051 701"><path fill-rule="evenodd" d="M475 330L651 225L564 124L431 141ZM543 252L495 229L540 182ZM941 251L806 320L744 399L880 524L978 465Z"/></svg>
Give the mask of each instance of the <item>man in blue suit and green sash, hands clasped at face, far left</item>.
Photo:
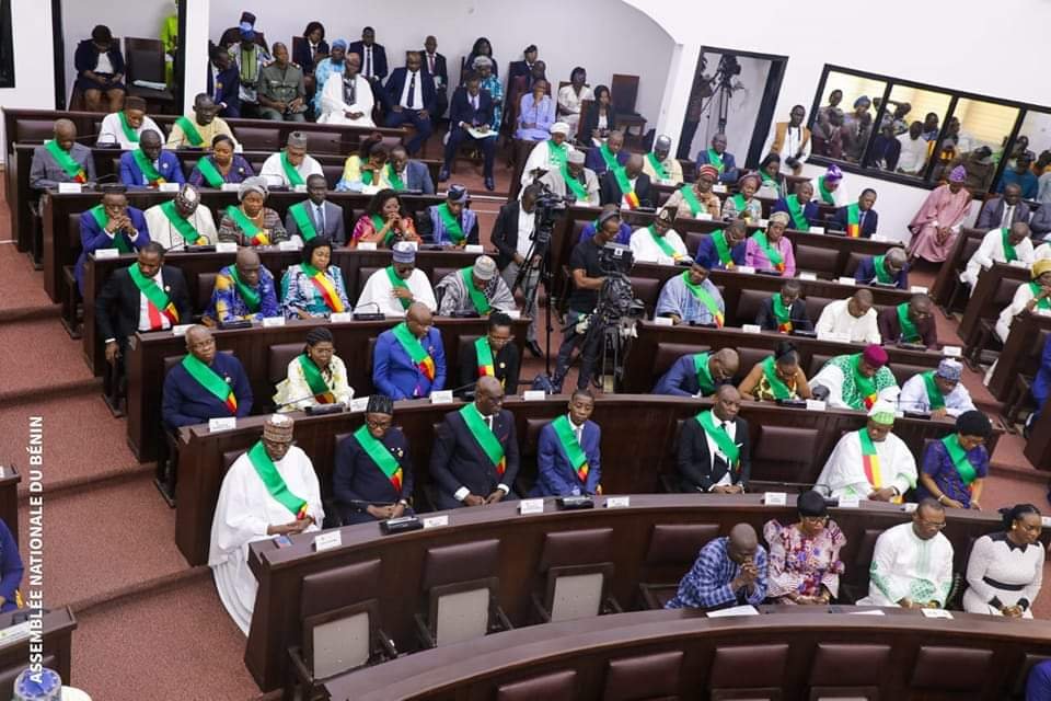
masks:
<svg viewBox="0 0 1051 701"><path fill-rule="evenodd" d="M80 257L73 267L77 287L84 294L84 262L99 249L131 253L150 242L150 230L141 209L128 207L124 187L103 189L102 204L80 215ZM163 246L161 251L163 251Z"/></svg>

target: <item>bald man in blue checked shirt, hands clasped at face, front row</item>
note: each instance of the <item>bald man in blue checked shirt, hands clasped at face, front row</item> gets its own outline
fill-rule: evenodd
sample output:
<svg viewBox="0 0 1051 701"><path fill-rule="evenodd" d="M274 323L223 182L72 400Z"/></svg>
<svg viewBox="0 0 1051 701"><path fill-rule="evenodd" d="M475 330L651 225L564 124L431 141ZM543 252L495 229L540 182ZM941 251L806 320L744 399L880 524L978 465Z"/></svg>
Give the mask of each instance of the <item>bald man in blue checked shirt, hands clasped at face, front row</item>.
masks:
<svg viewBox="0 0 1051 701"><path fill-rule="evenodd" d="M766 598L766 550L755 529L738 524L728 537L709 541L679 583L675 598L665 608L714 610L728 606L758 606Z"/></svg>

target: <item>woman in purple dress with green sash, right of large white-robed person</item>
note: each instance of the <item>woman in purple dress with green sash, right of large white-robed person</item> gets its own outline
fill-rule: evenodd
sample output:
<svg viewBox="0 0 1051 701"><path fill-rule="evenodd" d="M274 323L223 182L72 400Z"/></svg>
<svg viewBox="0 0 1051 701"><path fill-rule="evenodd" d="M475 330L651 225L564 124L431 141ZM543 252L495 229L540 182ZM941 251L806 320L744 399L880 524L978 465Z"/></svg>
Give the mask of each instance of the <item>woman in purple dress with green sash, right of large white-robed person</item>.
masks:
<svg viewBox="0 0 1051 701"><path fill-rule="evenodd" d="M929 496L952 508L981 509L982 484L989 474L989 450L982 444L992 435L993 425L982 412L960 414L955 434L927 444L916 501Z"/></svg>

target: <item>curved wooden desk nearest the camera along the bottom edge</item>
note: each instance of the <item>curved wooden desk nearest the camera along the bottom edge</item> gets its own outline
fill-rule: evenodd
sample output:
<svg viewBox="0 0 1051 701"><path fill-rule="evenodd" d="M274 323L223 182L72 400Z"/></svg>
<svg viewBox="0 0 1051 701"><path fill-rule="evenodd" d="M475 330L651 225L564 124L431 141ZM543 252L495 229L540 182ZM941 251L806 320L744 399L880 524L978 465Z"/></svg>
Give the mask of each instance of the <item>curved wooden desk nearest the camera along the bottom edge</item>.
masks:
<svg viewBox="0 0 1051 701"><path fill-rule="evenodd" d="M571 671L575 698L600 699L613 683L610 663L630 659L642 667L625 675L633 686L645 688L649 679L652 687L674 691L678 696L670 698L677 699L708 698L707 691L714 687L743 689L774 682L785 701L806 700L813 698L812 687L829 686L816 681L831 677L842 682L845 675L871 680L880 699L915 699L920 698L914 686L917 673L935 677L937 671L948 673L942 679L945 689L968 674L959 667L931 674L921 668L925 655L960 651L962 659L968 659L965 656L970 651L989 651L988 667L971 673L982 676L973 696L967 698L1008 699L1024 686L1030 665L1051 655L1051 624L1046 621L1017 625L956 611L952 620L939 620L904 609L887 609L883 616L851 614L859 610L871 607L771 605L760 607L761 616L714 619L695 611L638 611L533 625L339 675L324 688L333 701L495 699L501 686ZM755 665L752 675L732 679L715 666L716 651L740 654L752 647L760 653L755 659L760 662L765 660L761 653L767 645L784 646L787 664ZM843 662L862 662L866 652L871 653L873 648L863 647L869 645L886 648L885 665L844 668ZM669 652L682 655L671 669L646 658ZM656 668L647 669L647 662ZM829 669L822 670L822 664ZM675 676L651 676L661 673ZM846 694L840 692L835 698Z"/></svg>

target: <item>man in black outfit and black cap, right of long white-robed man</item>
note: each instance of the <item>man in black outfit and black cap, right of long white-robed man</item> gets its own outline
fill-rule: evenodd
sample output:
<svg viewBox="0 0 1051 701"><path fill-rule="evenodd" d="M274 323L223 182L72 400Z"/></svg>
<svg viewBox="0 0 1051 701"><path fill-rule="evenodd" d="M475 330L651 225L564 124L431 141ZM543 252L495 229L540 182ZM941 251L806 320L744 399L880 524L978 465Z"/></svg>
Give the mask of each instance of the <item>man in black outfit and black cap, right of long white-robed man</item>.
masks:
<svg viewBox="0 0 1051 701"><path fill-rule="evenodd" d="M370 394L365 424L336 446L333 493L344 525L413 515L413 460L394 401Z"/></svg>

